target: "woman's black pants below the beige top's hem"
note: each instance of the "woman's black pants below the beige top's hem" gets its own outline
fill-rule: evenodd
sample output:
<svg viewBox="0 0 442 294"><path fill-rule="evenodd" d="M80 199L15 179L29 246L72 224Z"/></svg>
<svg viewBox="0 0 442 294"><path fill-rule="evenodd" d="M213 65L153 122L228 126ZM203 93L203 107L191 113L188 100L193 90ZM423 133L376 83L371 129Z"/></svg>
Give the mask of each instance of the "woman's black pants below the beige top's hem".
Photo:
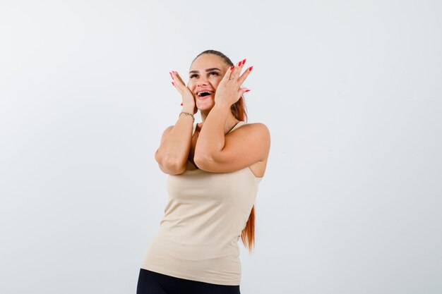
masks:
<svg viewBox="0 0 442 294"><path fill-rule="evenodd" d="M140 269L136 294L241 294L238 286L217 285Z"/></svg>

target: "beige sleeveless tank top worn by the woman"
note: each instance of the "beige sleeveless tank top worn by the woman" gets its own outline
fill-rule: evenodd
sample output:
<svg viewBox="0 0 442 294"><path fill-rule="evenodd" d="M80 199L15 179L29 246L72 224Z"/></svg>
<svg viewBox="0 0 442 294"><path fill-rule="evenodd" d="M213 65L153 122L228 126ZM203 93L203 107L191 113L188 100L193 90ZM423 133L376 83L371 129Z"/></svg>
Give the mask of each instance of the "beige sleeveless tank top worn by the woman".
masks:
<svg viewBox="0 0 442 294"><path fill-rule="evenodd" d="M230 131L243 124L239 121ZM193 133L195 129L196 123ZM209 173L187 161L184 173L167 178L165 215L141 268L193 281L239 285L238 241L261 179L249 167Z"/></svg>

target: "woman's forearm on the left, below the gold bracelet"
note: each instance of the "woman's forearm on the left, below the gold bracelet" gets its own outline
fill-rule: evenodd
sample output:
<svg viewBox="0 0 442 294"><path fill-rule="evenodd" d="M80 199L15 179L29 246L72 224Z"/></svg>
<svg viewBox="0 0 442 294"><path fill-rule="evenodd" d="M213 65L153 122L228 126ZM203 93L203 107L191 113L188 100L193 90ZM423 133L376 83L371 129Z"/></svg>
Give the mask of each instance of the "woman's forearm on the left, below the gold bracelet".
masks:
<svg viewBox="0 0 442 294"><path fill-rule="evenodd" d="M190 112L185 111L184 112ZM158 164L167 169L177 169L186 164L191 148L193 119L181 114L172 130L155 153Z"/></svg>

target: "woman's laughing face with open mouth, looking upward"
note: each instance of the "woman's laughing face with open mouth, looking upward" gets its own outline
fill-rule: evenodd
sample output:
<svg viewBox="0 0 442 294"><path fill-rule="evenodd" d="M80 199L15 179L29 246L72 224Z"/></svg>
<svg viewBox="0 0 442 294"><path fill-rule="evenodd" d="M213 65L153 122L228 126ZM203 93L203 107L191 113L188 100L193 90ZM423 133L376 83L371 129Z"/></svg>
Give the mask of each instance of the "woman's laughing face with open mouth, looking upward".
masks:
<svg viewBox="0 0 442 294"><path fill-rule="evenodd" d="M215 105L215 92L229 66L220 56L203 54L191 65L187 87L195 96L196 108L210 110Z"/></svg>

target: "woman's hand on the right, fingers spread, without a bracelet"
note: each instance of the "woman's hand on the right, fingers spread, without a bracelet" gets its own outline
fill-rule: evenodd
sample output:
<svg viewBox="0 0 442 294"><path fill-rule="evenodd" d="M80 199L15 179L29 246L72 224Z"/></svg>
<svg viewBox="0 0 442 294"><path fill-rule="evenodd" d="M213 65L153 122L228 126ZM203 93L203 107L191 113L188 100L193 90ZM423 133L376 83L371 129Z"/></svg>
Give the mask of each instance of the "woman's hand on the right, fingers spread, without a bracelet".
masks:
<svg viewBox="0 0 442 294"><path fill-rule="evenodd" d="M236 103L239 98L250 90L247 88L241 88L242 83L246 80L247 76L251 72L250 68L247 68L241 76L239 74L246 63L246 59L239 61L236 66L231 66L227 69L224 77L222 78L220 84L215 92L215 104L225 104L226 106L231 106Z"/></svg>

